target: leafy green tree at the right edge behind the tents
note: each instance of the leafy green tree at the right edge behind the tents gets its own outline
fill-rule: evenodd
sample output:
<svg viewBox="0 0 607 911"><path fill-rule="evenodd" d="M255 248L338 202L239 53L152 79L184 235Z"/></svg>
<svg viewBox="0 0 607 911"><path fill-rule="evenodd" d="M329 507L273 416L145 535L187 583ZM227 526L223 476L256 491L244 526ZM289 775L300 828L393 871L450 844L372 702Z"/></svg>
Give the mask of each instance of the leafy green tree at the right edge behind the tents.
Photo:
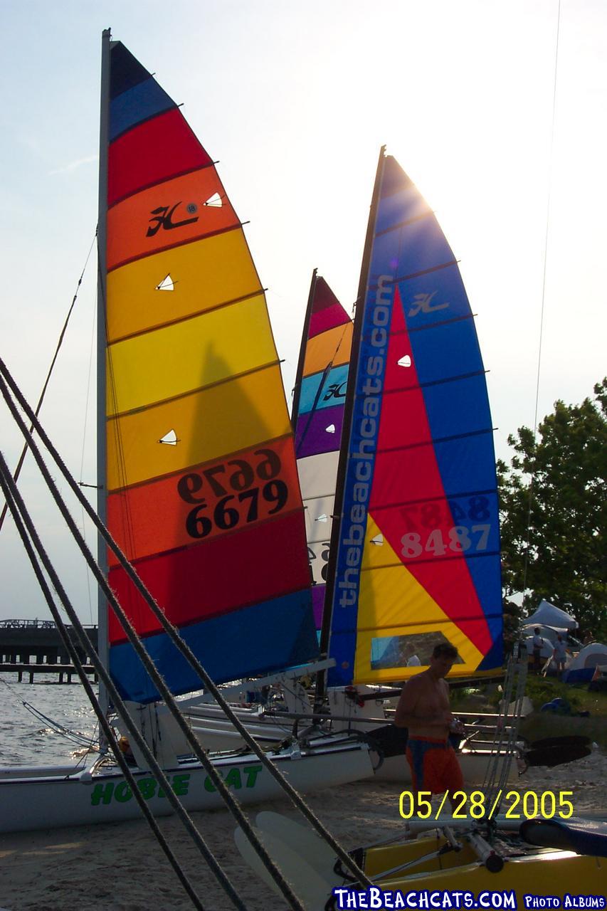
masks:
<svg viewBox="0 0 607 911"><path fill-rule="evenodd" d="M534 439L508 438L510 467L498 461L502 578L507 598L526 591L575 615L581 630L607 637L607 379L594 400L555 402Z"/></svg>

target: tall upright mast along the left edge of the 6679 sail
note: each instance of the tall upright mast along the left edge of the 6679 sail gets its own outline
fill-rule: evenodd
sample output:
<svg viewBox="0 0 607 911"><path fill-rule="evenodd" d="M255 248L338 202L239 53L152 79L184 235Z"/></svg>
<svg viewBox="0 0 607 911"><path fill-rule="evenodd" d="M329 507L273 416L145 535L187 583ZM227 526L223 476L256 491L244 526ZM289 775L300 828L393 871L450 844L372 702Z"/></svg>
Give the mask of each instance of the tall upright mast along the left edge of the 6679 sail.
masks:
<svg viewBox="0 0 607 911"><path fill-rule="evenodd" d="M97 512L107 524L106 445L106 240L108 219L108 126L111 31L101 36L101 109L99 116L98 281L97 281ZM98 535L98 564L108 575L107 547ZM98 589L98 656L108 667L108 602ZM108 711L108 693L99 681L99 703Z"/></svg>

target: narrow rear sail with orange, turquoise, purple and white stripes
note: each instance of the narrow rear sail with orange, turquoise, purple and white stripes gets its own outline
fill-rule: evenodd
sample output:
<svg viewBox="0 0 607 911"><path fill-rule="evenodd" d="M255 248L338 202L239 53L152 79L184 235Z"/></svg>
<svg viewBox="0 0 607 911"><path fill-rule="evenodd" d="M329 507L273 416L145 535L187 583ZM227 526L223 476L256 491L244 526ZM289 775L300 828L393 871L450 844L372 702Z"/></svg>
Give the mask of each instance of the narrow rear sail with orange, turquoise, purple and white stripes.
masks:
<svg viewBox="0 0 607 911"><path fill-rule="evenodd" d="M323 616L351 347L352 320L324 278L314 271L293 397L293 428L318 630Z"/></svg>

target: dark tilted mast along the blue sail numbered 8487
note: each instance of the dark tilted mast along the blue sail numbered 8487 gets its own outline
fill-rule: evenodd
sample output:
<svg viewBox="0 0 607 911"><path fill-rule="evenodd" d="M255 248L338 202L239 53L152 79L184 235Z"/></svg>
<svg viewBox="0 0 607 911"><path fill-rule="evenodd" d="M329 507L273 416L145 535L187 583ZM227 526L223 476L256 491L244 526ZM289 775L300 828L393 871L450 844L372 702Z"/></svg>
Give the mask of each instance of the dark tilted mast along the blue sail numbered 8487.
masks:
<svg viewBox="0 0 607 911"><path fill-rule="evenodd" d="M335 571L337 569L337 551L339 549L339 536L341 533L342 512L344 507L345 468L348 461L348 444L350 441L350 432L352 429L352 412L355 400L356 374L358 371L358 353L360 348L360 337L363 328L366 289L369 283L369 267L371 264L371 253L373 250L373 236L376 228L379 188L381 187L382 174L384 172L385 157L386 146L382 146L382 148L379 150L379 159L377 160L376 182L373 188L371 208L369 210L369 220L366 226L365 248L363 250L363 261L361 264L360 280L358 282L358 294L356 296L355 324L352 337L352 355L350 358L350 371L348 374L348 385L345 394L344 429L342 431L342 446L339 452L339 464L337 466L334 517L333 526L331 528L331 543L329 546L329 562L326 574L326 589L324 591L323 625L321 627L319 643L321 660L327 658L329 653L331 620L333 618ZM314 702L316 705L319 705L324 700L325 692L326 670L322 670L316 676L316 690L314 693Z"/></svg>

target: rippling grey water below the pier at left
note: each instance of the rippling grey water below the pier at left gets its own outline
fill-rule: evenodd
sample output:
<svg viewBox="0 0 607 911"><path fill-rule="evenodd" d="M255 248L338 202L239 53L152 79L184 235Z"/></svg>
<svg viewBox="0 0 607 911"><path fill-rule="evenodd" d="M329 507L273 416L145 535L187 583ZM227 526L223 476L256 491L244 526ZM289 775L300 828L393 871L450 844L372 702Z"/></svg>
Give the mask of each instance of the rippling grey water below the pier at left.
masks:
<svg viewBox="0 0 607 911"><path fill-rule="evenodd" d="M0 765L76 764L83 750L27 711L24 702L70 731L96 737L97 717L87 694L79 683L57 683L57 674L36 675L36 683L18 683L16 674L1 674L0 699Z"/></svg>

